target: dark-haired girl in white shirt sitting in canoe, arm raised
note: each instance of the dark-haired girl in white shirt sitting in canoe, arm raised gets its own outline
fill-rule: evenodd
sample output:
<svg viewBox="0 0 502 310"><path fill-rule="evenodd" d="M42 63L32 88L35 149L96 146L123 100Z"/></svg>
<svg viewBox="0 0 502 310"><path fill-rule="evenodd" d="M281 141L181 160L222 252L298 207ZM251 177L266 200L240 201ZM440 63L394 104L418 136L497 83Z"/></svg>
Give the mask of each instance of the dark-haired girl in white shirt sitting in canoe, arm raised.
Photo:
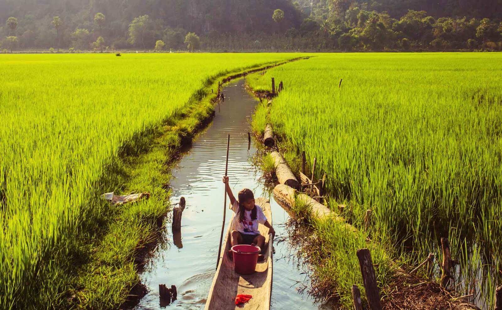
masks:
<svg viewBox="0 0 502 310"><path fill-rule="evenodd" d="M265 225L269 228L269 232L273 235L276 231L267 221L267 217L263 214L262 208L255 204L255 196L249 189L243 189L237 195L238 200L233 196L232 190L228 185L228 177L223 177L226 193L230 198L230 209L235 213L232 223L232 235L230 244L232 246L237 244L256 244L262 250L265 245L265 237L260 235L258 230L258 223ZM228 255L231 257L231 252ZM260 254L259 260L263 259Z"/></svg>

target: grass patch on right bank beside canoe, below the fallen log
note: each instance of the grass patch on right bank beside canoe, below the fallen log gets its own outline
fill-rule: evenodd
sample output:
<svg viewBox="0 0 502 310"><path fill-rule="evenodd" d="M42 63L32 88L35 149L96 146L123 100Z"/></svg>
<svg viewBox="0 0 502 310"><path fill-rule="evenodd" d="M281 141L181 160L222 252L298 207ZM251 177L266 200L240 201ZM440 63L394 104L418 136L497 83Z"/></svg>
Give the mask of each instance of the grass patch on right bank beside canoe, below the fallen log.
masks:
<svg viewBox="0 0 502 310"><path fill-rule="evenodd" d="M311 217L311 207L296 197L291 210L296 219L291 225L293 242L301 245L302 255L314 266L311 293L318 298L332 298L344 308L352 305L351 287L357 284L364 299L364 286L356 252L369 248L375 265L377 281L384 295L391 290L394 274L386 248L374 242L367 242L367 234L349 229L344 222L331 217ZM299 226L298 223L308 223Z"/></svg>

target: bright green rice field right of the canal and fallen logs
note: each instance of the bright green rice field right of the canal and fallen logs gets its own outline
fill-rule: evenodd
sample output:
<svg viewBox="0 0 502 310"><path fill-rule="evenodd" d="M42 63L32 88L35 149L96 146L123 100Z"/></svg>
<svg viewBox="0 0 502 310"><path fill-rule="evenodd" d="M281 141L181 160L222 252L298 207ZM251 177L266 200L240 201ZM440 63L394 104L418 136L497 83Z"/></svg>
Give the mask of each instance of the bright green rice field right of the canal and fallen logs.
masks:
<svg viewBox="0 0 502 310"><path fill-rule="evenodd" d="M450 287L493 307L502 283L502 54L318 54L248 83L270 89L271 77L284 90L270 121L293 146L290 160L301 150L310 165L317 158L331 208L345 204L342 216L360 230L371 209L366 235L405 265L435 253L436 277L439 240L449 238L460 263ZM264 128L264 111L257 110L255 128ZM325 248L347 250L339 227L323 225L320 235L333 234ZM347 307L351 282L344 278L356 261L318 267L339 284Z"/></svg>

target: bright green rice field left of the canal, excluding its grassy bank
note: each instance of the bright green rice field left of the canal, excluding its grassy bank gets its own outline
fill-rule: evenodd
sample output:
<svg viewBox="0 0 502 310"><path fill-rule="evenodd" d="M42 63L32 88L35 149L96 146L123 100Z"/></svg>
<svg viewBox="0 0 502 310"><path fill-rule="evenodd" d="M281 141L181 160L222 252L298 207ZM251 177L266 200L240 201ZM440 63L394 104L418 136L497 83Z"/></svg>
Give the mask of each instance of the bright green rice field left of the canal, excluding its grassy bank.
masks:
<svg viewBox="0 0 502 310"><path fill-rule="evenodd" d="M216 76L294 57L0 56L0 308L61 307L58 300L71 297L65 268L96 241L94 228L109 224L99 195L116 190L107 180L116 159L141 150L156 126L210 93Z"/></svg>

